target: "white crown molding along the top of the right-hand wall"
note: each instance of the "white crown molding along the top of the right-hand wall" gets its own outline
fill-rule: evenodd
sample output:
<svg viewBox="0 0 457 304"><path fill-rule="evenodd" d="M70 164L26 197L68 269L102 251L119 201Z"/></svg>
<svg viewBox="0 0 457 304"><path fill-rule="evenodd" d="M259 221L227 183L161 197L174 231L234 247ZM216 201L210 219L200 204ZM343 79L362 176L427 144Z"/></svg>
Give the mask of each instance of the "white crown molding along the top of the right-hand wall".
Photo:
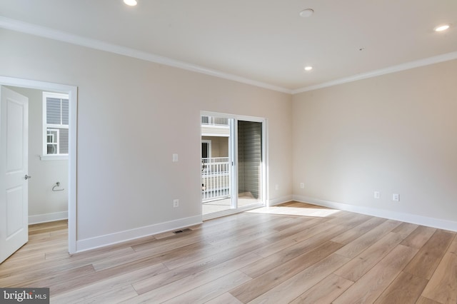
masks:
<svg viewBox="0 0 457 304"><path fill-rule="evenodd" d="M414 69L418 68L420 66L428 66L430 64L438 64L443 61L450 61L453 59L457 59L457 51L447 53L447 54L442 54L438 56L433 56L429 57L426 59L420 59L416 61L410 61L406 62L405 64L398 64L397 66L389 66L388 68L385 69L379 69L375 71L370 71L367 73L362 73L362 74L357 74L354 76L349 76L345 78L339 78L333 81L328 81L324 83L319 83L316 84L315 86L305 86L304 88L297 88L295 90L292 90L292 94L298 94L298 93L303 93L307 91L313 91L317 90L318 88L327 88L328 86L336 86L338 84L343 84L343 83L348 83L348 82L353 82L353 81L358 81L361 79L366 79L366 78L372 78L376 76L381 76L385 74L391 74L391 73L396 73L399 71L405 71L409 69Z"/></svg>

